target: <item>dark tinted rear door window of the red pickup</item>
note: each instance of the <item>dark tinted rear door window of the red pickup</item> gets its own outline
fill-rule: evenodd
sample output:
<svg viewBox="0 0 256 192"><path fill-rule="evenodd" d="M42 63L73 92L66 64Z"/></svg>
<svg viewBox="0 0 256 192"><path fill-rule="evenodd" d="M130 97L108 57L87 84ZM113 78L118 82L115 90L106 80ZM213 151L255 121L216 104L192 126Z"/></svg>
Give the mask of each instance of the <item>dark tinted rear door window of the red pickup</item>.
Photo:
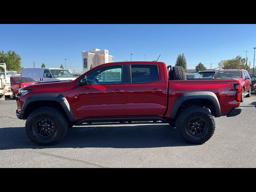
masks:
<svg viewBox="0 0 256 192"><path fill-rule="evenodd" d="M159 80L157 65L132 65L132 83L144 83Z"/></svg>

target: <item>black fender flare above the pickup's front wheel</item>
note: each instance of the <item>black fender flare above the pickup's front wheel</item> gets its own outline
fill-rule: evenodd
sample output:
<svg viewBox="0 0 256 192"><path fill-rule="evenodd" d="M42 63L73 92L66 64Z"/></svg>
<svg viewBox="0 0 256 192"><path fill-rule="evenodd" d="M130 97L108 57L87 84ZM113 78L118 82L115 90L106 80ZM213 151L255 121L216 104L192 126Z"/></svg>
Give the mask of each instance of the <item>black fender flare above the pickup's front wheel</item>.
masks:
<svg viewBox="0 0 256 192"><path fill-rule="evenodd" d="M55 102L58 102L62 106L66 115L68 116L68 119L71 122L75 121L74 114L73 114L73 112L70 108L68 100L62 94L58 94L58 93L50 93L50 94L46 93L46 94L44 94L43 93L43 94L32 95L32 96L28 97L25 100L25 102L22 106L22 111L25 111L28 104L30 104L31 102L34 102L34 101L55 101Z"/></svg>

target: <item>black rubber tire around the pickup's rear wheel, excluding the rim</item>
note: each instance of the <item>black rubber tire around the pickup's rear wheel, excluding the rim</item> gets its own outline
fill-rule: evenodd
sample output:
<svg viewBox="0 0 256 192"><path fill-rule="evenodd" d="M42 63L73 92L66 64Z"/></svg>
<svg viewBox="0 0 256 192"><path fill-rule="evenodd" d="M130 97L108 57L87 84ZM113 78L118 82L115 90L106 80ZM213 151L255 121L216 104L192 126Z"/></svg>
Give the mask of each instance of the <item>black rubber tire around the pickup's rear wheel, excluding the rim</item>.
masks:
<svg viewBox="0 0 256 192"><path fill-rule="evenodd" d="M193 136L188 132L189 120L194 117L200 117L204 120L207 128L201 136ZM214 116L204 107L190 106L180 112L176 120L176 128L180 136L189 143L192 144L204 144L208 141L215 130Z"/></svg>

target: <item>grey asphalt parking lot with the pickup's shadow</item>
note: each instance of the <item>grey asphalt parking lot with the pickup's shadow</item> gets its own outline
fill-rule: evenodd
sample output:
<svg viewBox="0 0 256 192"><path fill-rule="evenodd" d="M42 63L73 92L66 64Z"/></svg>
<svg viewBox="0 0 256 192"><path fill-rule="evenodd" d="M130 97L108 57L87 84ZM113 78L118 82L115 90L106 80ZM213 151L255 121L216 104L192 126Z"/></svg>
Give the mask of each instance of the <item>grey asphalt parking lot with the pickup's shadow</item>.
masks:
<svg viewBox="0 0 256 192"><path fill-rule="evenodd" d="M188 144L168 124L81 126L54 146L37 146L16 118L16 101L0 103L1 168L251 168L256 167L256 94L241 116L216 118L213 137Z"/></svg>

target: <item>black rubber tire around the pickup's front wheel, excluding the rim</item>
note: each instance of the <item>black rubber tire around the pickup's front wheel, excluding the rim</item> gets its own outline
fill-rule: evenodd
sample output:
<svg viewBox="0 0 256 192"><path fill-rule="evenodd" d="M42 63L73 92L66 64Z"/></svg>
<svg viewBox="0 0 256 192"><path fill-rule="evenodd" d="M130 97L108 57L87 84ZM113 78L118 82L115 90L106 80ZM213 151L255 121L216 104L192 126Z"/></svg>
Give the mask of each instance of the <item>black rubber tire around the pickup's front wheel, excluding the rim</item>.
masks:
<svg viewBox="0 0 256 192"><path fill-rule="evenodd" d="M56 124L56 131L50 138L43 138L34 131L34 124L42 117L51 118ZM38 145L53 145L64 138L68 130L68 122L64 114L54 107L41 107L34 110L26 120L26 134Z"/></svg>

